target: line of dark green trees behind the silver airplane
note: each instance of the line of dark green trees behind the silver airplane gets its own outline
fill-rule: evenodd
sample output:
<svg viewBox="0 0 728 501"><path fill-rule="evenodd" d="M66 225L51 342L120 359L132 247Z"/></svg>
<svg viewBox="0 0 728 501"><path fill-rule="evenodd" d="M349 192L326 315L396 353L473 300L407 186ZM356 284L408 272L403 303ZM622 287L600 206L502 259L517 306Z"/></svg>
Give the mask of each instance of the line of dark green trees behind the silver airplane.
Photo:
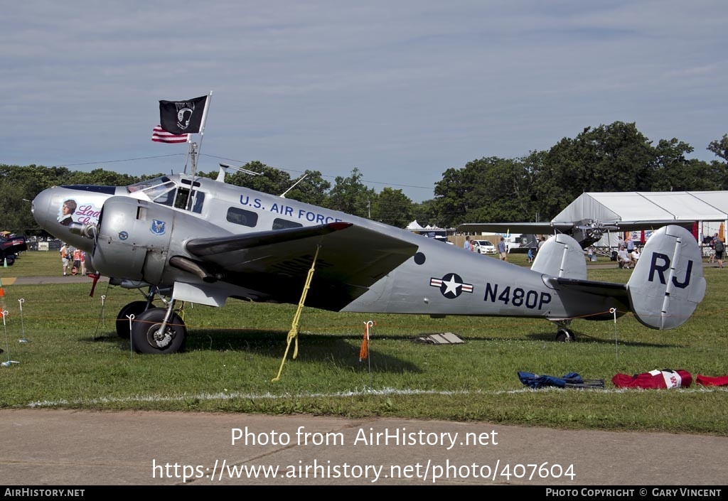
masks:
<svg viewBox="0 0 728 501"><path fill-rule="evenodd" d="M728 190L728 134L711 141L707 149L716 155L711 162L688 159L693 147L676 138L653 145L634 123L586 127L546 151L513 159L483 157L448 168L435 183L435 197L424 202L412 202L401 189L376 192L365 186L357 168L348 177L337 176L332 186L317 170L291 178L284 170L256 161L244 168L262 175L236 172L226 175L226 182L270 194L288 190L288 199L399 227L414 219L422 226L441 228L465 222L549 221L585 192ZM124 186L159 175L0 165L0 229L41 234L30 201L50 186ZM197 175L215 178L217 172Z"/></svg>

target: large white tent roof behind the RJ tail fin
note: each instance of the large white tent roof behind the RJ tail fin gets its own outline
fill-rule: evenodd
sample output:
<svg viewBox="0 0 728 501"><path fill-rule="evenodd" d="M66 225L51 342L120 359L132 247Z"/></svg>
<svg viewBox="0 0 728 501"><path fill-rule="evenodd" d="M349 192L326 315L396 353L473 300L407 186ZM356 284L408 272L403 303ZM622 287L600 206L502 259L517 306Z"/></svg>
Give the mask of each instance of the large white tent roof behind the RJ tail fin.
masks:
<svg viewBox="0 0 728 501"><path fill-rule="evenodd" d="M571 202L553 223L593 219L599 222L696 221L703 236L728 224L728 192L612 192L584 193ZM657 229L657 228L655 228ZM721 235L725 240L725 235ZM602 239L604 240L604 239ZM612 239L616 240L616 239ZM611 242L614 245L614 242ZM597 245L610 245L598 242Z"/></svg>

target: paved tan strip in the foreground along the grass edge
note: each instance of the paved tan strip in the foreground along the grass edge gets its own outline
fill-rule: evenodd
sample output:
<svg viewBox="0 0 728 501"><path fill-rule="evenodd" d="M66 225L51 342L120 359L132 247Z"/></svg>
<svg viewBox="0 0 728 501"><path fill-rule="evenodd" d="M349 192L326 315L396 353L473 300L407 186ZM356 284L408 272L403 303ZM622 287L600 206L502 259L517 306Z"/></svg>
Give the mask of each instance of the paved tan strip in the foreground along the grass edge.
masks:
<svg viewBox="0 0 728 501"><path fill-rule="evenodd" d="M240 439L233 443L235 433ZM390 438L384 445L382 433L398 433L400 443ZM409 434L404 444L403 433ZM466 438L478 445L465 445ZM433 476L439 476L434 484L635 486L636 491L639 486L728 484L728 437L668 433L386 418L6 409L0 410L0 443L0 485L15 486L426 485L433 484ZM545 465L545 478L536 469L529 480L532 468L518 466L531 464ZM260 472L258 478L238 478L234 472L243 466L278 471L275 478ZM506 466L510 478L503 474Z"/></svg>

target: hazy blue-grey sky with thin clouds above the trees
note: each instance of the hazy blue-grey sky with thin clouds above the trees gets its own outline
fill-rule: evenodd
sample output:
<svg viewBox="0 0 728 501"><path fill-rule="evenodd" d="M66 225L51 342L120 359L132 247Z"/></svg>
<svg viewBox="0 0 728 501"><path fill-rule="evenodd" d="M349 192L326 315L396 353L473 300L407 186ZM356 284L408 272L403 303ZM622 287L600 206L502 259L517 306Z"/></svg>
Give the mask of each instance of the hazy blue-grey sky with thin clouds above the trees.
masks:
<svg viewBox="0 0 728 501"><path fill-rule="evenodd" d="M178 172L159 100L210 90L199 170L357 167L415 202L448 168L617 120L710 161L727 25L719 0L10 2L0 163Z"/></svg>

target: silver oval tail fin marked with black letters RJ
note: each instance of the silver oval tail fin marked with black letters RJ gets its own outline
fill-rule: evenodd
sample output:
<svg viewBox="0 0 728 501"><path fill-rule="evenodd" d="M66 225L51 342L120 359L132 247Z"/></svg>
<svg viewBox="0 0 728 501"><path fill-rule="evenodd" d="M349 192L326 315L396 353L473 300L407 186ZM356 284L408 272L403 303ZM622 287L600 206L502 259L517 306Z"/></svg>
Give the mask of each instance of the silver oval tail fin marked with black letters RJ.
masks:
<svg viewBox="0 0 728 501"><path fill-rule="evenodd" d="M663 226L649 237L627 283L632 311L644 326L681 326L705 296L703 256L681 226Z"/></svg>

